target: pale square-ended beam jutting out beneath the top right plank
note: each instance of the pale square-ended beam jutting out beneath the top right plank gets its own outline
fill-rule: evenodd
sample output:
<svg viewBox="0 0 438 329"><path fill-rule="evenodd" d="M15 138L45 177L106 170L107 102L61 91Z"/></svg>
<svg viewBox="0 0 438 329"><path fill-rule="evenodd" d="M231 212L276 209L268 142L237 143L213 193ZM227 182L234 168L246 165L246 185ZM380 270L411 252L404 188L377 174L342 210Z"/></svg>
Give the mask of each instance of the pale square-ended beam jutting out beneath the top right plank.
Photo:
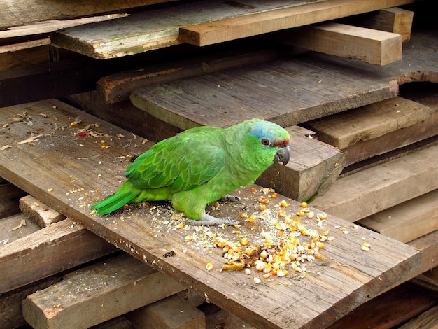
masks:
<svg viewBox="0 0 438 329"><path fill-rule="evenodd" d="M365 27L330 22L288 30L276 37L287 45L381 66L402 59L399 34Z"/></svg>

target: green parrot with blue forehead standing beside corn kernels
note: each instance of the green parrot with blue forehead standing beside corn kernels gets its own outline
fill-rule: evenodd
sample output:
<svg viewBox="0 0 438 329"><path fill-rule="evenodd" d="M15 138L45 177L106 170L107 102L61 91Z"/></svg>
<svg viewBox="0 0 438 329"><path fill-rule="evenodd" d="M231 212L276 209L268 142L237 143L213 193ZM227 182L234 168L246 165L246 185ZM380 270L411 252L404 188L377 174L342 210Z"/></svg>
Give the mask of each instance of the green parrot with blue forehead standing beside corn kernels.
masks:
<svg viewBox="0 0 438 329"><path fill-rule="evenodd" d="M127 167L127 181L91 209L105 215L127 203L169 200L197 225L234 225L231 217L206 214L206 205L239 200L228 193L254 183L274 162L288 163L289 139L282 127L260 119L185 130L139 155Z"/></svg>

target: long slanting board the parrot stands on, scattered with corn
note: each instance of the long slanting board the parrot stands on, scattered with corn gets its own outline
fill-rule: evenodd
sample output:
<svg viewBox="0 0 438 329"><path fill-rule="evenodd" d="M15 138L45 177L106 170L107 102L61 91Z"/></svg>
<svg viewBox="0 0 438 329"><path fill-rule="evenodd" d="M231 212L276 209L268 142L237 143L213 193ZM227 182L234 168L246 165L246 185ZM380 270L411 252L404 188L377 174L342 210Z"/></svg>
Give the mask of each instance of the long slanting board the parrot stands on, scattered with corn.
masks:
<svg viewBox="0 0 438 329"><path fill-rule="evenodd" d="M171 217L171 209L160 207L160 204L150 205L152 207L132 205L110 216L94 216L88 209L90 204L120 186L121 174L129 163L128 155L145 151L150 142L142 144L141 139L134 139L129 132L108 123L101 122L97 127L94 125L97 118L55 100L3 108L0 121L23 111L31 116L34 127L44 128L44 134L34 141L34 145L17 144L29 138L29 126L23 123L10 125L10 137L7 141L0 140L2 145L12 146L0 153L1 176L62 214L81 221L86 228L118 248L166 272L202 293L209 301L256 326L326 327L358 304L378 295L386 286L404 280L420 264L420 255L414 248L329 216L321 230L329 230L334 240L327 241L320 251L322 260L307 265L304 279L292 273L267 280L255 269L251 275L241 271L220 272L222 251L203 245L203 241L211 244L211 234L223 235L232 241L239 241L239 235L246 235L250 244L257 244L262 230L269 230L269 224L258 220L254 223L242 221L236 231L234 227L206 229L186 223L183 229L177 230L179 222ZM72 126L71 121L78 114L83 122ZM86 134L87 137L81 137L79 129L86 125L91 125L92 131ZM255 193L251 187L236 190L235 194L241 196L241 204L220 204L218 209L211 209L211 214L237 218L242 211L260 211L256 200L262 193L257 187L255 190ZM297 202L283 198L290 203L290 207L284 209L285 214L302 209ZM278 203L274 200L267 204L274 216ZM308 225L318 228L316 221L309 221ZM342 227L346 230L339 230ZM186 236L191 236L191 241ZM371 250L361 250L364 241L372 245ZM211 271L206 270L209 262L213 264ZM261 282L255 283L253 276L260 276Z"/></svg>

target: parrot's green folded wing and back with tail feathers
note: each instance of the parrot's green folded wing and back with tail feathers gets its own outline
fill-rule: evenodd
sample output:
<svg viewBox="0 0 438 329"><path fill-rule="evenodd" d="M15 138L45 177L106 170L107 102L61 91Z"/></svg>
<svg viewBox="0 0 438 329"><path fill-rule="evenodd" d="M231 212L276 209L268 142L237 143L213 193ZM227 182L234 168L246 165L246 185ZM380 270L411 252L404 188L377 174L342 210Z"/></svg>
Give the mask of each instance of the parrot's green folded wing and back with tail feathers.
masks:
<svg viewBox="0 0 438 329"><path fill-rule="evenodd" d="M127 167L127 181L119 190L91 209L109 214L129 202L164 200L169 191L173 194L206 183L225 166L222 131L199 127L158 142Z"/></svg>

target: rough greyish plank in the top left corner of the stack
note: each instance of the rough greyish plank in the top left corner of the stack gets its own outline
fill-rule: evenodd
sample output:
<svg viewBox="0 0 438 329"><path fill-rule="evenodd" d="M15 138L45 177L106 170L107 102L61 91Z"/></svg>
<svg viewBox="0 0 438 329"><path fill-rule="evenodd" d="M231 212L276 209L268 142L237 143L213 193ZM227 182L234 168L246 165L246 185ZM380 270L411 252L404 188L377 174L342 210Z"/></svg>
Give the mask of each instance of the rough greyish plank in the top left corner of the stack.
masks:
<svg viewBox="0 0 438 329"><path fill-rule="evenodd" d="M68 3L55 2L50 6L43 0L31 1L0 1L0 16L3 18L0 29L28 25L43 20L78 18L99 13L111 13L116 10L145 6L170 0L122 0L108 3L104 0L89 1L73 0Z"/></svg>

